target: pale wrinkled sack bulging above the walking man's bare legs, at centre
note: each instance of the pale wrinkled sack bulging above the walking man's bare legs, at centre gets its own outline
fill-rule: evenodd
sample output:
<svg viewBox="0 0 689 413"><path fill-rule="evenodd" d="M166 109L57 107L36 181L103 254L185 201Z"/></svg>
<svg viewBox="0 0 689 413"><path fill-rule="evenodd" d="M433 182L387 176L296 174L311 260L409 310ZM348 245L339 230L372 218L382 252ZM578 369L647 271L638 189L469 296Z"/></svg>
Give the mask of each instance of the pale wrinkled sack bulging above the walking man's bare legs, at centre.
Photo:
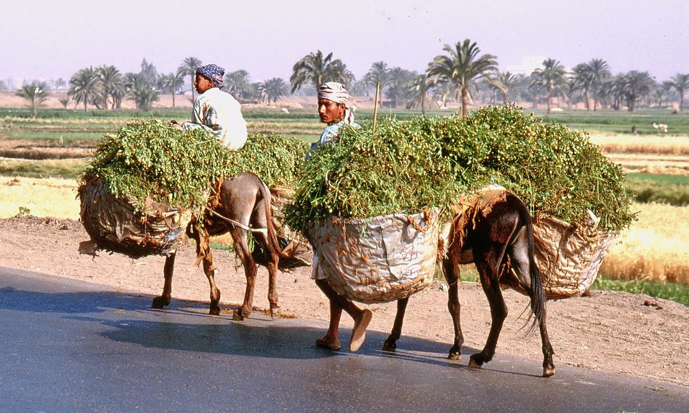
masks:
<svg viewBox="0 0 689 413"><path fill-rule="evenodd" d="M391 214L369 219L332 217L307 230L327 281L362 303L404 299L433 280L438 214Z"/></svg>

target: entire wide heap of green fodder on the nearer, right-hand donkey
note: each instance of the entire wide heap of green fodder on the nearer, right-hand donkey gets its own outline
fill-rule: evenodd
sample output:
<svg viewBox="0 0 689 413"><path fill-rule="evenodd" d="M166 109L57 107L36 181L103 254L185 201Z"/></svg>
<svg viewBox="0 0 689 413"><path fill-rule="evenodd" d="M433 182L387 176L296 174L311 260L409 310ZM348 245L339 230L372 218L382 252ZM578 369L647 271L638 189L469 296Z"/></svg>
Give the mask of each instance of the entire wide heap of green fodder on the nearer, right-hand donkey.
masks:
<svg viewBox="0 0 689 413"><path fill-rule="evenodd" d="M365 218L449 205L493 181L532 213L581 222L592 210L600 228L634 219L624 173L586 134L542 123L513 106L469 117L383 119L376 134L344 128L311 155L300 177L291 228L305 230L334 214Z"/></svg>

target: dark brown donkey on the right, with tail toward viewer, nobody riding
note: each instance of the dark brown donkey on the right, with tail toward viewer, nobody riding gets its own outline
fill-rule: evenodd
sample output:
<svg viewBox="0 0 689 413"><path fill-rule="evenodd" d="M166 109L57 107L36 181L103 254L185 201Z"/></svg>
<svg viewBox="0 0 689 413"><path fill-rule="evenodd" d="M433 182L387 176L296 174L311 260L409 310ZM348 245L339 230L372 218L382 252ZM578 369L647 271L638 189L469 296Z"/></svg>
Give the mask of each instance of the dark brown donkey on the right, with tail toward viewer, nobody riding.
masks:
<svg viewBox="0 0 689 413"><path fill-rule="evenodd" d="M497 338L507 316L500 285L520 285L531 298L531 312L535 316L529 331L534 330L537 324L541 332L543 376L552 376L555 374L555 365L553 347L546 331L546 299L540 272L533 259L533 223L526 205L509 192L490 191L464 208L464 212L453 219L448 254L442 260L442 269L449 285L447 306L455 328L455 342L448 358L459 360L464 343L460 326L460 301L457 297L460 283L457 265L475 263L491 307L492 323L486 345L481 352L471 355L469 367L481 367L483 363L491 361L495 354ZM385 351L393 352L397 347L407 301L408 298L398 301L395 325L382 347Z"/></svg>

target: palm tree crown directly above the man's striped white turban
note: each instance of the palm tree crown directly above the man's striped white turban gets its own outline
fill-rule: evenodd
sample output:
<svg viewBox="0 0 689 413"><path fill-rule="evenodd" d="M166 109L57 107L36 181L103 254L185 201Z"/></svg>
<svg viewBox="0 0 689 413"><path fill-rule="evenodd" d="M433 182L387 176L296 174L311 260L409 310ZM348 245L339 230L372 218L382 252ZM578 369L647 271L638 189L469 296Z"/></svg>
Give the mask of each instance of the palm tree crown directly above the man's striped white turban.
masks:
<svg viewBox="0 0 689 413"><path fill-rule="evenodd" d="M301 89L305 83L310 83L314 89L318 90L318 87L327 81L338 81L345 87L349 87L353 81L353 75L340 59L333 60L332 53L324 57L320 50L316 53L311 52L294 63L292 75L289 77L292 93Z"/></svg>

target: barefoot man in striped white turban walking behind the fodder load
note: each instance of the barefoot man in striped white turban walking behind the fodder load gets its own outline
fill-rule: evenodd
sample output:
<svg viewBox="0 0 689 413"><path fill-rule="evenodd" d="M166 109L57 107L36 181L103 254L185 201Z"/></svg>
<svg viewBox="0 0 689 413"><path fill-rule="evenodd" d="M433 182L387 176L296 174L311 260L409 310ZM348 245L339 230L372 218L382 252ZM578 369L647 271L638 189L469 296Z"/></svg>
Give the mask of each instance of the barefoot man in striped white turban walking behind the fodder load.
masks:
<svg viewBox="0 0 689 413"><path fill-rule="evenodd" d="M320 88L318 88L318 115L320 116L320 121L328 125L320 135L320 139L311 145L309 153L316 150L319 146L331 142L345 125L360 128L360 125L353 120L354 114L352 109L349 103L349 92L341 83L327 82L320 85ZM364 343L366 328L371 321L371 310L358 308L352 301L333 290L327 281L327 276L318 265L318 256L315 252L313 254L311 279L316 281L318 288L330 300L330 325L328 332L320 339L316 339L316 345L331 350L339 350L341 348L338 341L338 327L342 310L345 310L354 320L354 328L349 340L349 350L356 352Z"/></svg>

